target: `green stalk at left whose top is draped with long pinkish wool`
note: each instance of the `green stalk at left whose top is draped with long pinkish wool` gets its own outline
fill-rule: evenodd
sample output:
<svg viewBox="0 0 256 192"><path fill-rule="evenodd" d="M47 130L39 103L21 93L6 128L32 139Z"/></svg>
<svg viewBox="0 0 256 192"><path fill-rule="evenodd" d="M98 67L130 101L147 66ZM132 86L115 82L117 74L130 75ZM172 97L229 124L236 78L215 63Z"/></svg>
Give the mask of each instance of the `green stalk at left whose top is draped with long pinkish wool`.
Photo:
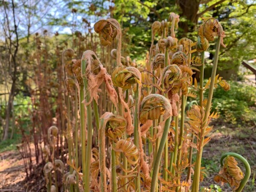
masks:
<svg viewBox="0 0 256 192"><path fill-rule="evenodd" d="M87 91L87 79L85 76L86 64L85 60L81 63L81 74L84 82L84 91L86 92L86 102L90 101L90 93ZM86 148L86 159L85 159L85 192L90 191L90 162L92 154L92 137L93 137L93 122L92 122L92 106L89 104L86 106L87 109L87 148Z"/></svg>

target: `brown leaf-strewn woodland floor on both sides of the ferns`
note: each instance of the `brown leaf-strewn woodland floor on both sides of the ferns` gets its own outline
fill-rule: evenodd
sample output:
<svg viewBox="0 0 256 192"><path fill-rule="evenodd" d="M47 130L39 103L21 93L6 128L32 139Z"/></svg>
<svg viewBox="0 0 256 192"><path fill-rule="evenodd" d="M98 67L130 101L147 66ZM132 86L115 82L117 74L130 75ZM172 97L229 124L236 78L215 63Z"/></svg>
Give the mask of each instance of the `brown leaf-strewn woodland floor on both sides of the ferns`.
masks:
<svg viewBox="0 0 256 192"><path fill-rule="evenodd" d="M243 192L256 192L256 184L252 183L253 174L256 173L256 127L239 127L231 125L218 125L215 122L212 140L204 148L202 166L207 173L201 186L211 187L211 192L230 192L227 185L220 186L213 181L220 169L219 159L225 152L236 152L244 156L250 163L252 174ZM31 145L33 149L33 145ZM194 151L195 152L195 151ZM32 152L33 154L33 152ZM35 157L33 154L33 162ZM35 165L35 164L34 164ZM34 174L26 179L23 159L17 150L0 153L0 192L43 192L44 177L42 165L36 168ZM240 165L240 167L243 167ZM221 190L222 189L222 190Z"/></svg>

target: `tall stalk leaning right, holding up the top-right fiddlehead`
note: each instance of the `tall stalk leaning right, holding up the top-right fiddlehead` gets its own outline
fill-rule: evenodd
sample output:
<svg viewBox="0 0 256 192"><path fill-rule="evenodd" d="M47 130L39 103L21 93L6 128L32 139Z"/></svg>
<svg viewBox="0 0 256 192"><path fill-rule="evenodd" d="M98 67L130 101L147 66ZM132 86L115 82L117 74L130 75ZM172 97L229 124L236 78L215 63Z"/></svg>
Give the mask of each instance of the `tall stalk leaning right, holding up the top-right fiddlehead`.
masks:
<svg viewBox="0 0 256 192"><path fill-rule="evenodd" d="M205 109L205 115L203 119L203 124L202 128L205 127L207 124L207 119L210 113L211 109L211 103L212 103L212 95L213 95L213 89L214 89L214 79L216 76L216 70L217 70L217 65L218 65L218 53L220 50L220 44L221 44L221 37L218 37L217 41L217 46L216 46L216 51L214 55L214 62L213 62L213 67L212 67L212 76L211 76L211 82L210 82L210 87L209 87L209 93L208 93L208 99L207 99L207 106ZM202 160L202 154L203 154L203 144L204 144L204 135L205 129L201 130L201 133L199 134L199 146L198 146L198 151L197 151L197 157L196 157L196 162L195 162L195 174L194 174L194 179L192 183L192 192L198 192L199 191L199 183L200 183L200 170L201 170L201 160Z"/></svg>

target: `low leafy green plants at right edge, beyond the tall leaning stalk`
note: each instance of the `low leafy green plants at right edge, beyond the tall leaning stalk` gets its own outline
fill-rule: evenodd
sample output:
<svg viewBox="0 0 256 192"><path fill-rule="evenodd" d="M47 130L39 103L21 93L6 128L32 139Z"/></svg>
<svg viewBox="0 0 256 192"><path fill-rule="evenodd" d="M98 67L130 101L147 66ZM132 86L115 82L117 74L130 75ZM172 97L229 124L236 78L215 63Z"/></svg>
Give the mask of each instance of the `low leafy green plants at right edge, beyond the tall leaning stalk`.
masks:
<svg viewBox="0 0 256 192"><path fill-rule="evenodd" d="M256 122L256 88L229 81L231 89L218 87L214 91L212 109L220 112L220 118L232 124Z"/></svg>

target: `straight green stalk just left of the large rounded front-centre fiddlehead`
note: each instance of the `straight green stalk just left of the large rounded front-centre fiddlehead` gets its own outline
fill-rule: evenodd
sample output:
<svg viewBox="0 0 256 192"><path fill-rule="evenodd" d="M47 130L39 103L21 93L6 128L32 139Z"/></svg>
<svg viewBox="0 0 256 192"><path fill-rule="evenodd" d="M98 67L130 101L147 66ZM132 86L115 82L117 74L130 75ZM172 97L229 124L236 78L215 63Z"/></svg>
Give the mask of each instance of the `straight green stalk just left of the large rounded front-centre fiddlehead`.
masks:
<svg viewBox="0 0 256 192"><path fill-rule="evenodd" d="M135 92L135 112L134 112L134 145L139 149L139 119L138 119L138 104L139 104L139 85L137 84L137 90ZM135 178L135 191L140 192L140 167L137 167L137 177Z"/></svg>

